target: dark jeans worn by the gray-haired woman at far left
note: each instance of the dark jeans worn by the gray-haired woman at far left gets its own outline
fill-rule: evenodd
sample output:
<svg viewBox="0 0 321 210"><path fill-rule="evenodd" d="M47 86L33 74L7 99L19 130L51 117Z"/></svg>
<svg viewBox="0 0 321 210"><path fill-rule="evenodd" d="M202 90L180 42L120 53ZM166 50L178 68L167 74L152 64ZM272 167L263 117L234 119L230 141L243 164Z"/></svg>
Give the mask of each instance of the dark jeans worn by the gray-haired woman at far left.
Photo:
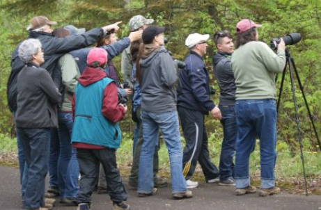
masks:
<svg viewBox="0 0 321 210"><path fill-rule="evenodd" d="M26 164L28 168L28 182L24 194L24 208L38 209L44 205L45 177L49 163L50 129L19 129Z"/></svg>

